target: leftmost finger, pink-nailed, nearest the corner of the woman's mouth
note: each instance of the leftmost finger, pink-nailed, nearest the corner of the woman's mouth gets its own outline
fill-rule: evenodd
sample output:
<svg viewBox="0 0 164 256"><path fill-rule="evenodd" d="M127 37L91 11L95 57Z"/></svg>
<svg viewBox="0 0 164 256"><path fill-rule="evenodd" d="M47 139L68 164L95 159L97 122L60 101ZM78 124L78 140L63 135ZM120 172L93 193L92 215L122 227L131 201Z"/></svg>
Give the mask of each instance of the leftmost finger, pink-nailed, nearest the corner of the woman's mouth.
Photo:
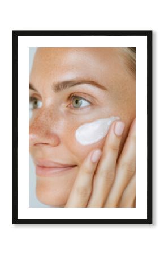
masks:
<svg viewBox="0 0 164 256"><path fill-rule="evenodd" d="M94 171L96 170L101 153L100 149L94 150L84 160L65 207L87 206L92 191Z"/></svg>

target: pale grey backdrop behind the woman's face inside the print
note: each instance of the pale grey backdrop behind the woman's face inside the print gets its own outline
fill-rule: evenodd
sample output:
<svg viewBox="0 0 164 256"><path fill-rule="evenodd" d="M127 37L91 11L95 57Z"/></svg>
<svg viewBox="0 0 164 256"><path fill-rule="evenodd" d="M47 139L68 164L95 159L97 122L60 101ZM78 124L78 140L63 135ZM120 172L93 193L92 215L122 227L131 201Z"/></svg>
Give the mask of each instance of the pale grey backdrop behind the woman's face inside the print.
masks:
<svg viewBox="0 0 164 256"><path fill-rule="evenodd" d="M29 73L31 72L33 57L36 52L36 47L29 48ZM29 113L29 118L30 118ZM49 207L48 205L40 203L36 197L36 174L32 158L29 155L29 207Z"/></svg>

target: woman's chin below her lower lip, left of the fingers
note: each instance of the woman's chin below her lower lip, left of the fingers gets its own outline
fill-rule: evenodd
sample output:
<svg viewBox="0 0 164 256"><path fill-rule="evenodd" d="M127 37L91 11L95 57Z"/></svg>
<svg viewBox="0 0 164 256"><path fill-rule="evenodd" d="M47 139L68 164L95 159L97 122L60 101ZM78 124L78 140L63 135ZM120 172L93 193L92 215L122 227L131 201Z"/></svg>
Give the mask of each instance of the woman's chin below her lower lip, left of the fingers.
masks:
<svg viewBox="0 0 164 256"><path fill-rule="evenodd" d="M64 207L76 178L76 173L61 177L38 177L36 196L42 203L51 207Z"/></svg>

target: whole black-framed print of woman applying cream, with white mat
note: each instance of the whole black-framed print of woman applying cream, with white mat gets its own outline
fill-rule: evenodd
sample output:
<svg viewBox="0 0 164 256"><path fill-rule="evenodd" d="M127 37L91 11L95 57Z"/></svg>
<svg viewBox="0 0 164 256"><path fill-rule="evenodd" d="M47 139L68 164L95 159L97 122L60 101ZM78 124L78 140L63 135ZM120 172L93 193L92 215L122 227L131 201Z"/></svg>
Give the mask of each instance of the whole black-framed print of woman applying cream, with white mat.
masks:
<svg viewBox="0 0 164 256"><path fill-rule="evenodd" d="M152 31L12 31L12 88L13 224L152 224Z"/></svg>

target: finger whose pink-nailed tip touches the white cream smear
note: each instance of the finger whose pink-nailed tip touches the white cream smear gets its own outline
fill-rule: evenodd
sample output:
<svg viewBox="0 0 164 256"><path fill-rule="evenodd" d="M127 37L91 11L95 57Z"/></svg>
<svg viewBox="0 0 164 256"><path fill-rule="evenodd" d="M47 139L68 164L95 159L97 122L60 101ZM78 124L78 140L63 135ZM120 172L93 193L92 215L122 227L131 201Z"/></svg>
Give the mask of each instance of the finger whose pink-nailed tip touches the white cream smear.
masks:
<svg viewBox="0 0 164 256"><path fill-rule="evenodd" d="M116 159L124 130L124 122L116 121L111 125L103 147L93 180L92 195L88 207L103 207L115 176Z"/></svg>

